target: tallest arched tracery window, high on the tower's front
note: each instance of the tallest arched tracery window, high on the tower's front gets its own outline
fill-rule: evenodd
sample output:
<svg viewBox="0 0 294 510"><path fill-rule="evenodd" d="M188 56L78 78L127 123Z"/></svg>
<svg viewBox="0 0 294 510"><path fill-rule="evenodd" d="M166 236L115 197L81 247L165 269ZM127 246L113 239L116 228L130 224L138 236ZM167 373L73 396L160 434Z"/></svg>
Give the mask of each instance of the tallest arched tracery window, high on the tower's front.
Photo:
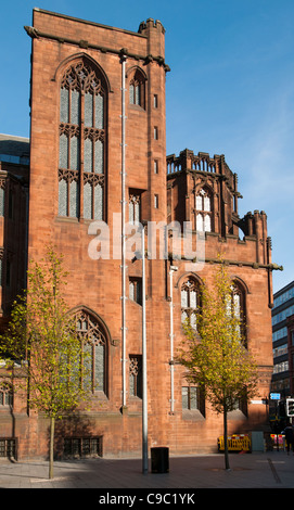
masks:
<svg viewBox="0 0 294 510"><path fill-rule="evenodd" d="M106 87L99 71L78 60L60 91L59 215L104 218Z"/></svg>

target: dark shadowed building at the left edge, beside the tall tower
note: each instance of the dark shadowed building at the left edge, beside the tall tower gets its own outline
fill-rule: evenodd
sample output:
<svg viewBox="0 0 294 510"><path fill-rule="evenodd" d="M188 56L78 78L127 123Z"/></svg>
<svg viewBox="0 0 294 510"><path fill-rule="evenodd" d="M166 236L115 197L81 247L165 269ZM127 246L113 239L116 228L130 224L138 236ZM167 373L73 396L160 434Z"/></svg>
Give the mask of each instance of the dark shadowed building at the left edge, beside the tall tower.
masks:
<svg viewBox="0 0 294 510"><path fill-rule="evenodd" d="M0 135L0 314L26 286L29 140Z"/></svg>

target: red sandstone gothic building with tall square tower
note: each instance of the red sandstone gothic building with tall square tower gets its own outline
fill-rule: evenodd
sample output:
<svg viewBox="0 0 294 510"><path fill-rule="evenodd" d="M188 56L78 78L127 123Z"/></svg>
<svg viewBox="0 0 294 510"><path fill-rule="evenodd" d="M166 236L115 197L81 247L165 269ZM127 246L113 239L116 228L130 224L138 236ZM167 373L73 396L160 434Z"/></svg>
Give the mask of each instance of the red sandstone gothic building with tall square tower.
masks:
<svg viewBox="0 0 294 510"><path fill-rule="evenodd" d="M212 281L219 253L259 369L256 400L231 412L229 432L264 430L276 267L267 217L255 211L240 218L237 175L222 155L184 150L166 157L169 68L163 25L148 20L131 33L36 9L26 30L31 37L29 171L21 161L16 167L1 163L1 190L7 182L0 218L2 317L4 321L13 294L24 284L27 259L42 257L52 242L65 256L65 297L77 328L94 339L90 409L59 425L56 455L141 451L142 260L125 257L124 218L149 226L174 221L181 228L190 221L194 242L196 230L205 239L205 264L182 251L175 256L171 233L165 256L156 252L145 260L149 447L167 446L171 454L215 451L222 435L221 417L175 364L181 322L188 316L193 320L199 285ZM20 196L13 224L9 193ZM107 226L112 241L104 258L89 250L97 235L94 221ZM5 284L9 279L14 286ZM17 438L18 458L46 457L47 421L17 395L12 404L4 386L1 395L0 436Z"/></svg>

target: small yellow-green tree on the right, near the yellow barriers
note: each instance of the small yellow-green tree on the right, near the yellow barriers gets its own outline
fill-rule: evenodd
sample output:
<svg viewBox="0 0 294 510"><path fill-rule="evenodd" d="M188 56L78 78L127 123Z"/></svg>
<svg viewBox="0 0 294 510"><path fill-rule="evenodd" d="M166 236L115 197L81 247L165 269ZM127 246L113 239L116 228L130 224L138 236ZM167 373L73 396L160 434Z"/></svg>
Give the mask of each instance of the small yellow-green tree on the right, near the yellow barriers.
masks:
<svg viewBox="0 0 294 510"><path fill-rule="evenodd" d="M196 384L217 413L223 415L225 466L228 455L228 412L256 392L257 367L246 348L244 323L232 298L232 282L225 264L216 271L212 289L201 285L196 331L184 324L186 341L179 361L187 379Z"/></svg>

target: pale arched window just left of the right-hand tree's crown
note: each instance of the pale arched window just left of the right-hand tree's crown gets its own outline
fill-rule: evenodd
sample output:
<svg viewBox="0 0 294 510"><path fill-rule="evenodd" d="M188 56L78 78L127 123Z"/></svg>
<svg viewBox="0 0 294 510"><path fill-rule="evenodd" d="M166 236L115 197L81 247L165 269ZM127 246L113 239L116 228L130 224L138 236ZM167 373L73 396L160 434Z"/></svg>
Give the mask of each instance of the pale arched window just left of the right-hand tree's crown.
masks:
<svg viewBox="0 0 294 510"><path fill-rule="evenodd" d="M187 319L190 326L197 328L197 310L200 306L200 288L193 278L189 278L181 285L181 322Z"/></svg>

